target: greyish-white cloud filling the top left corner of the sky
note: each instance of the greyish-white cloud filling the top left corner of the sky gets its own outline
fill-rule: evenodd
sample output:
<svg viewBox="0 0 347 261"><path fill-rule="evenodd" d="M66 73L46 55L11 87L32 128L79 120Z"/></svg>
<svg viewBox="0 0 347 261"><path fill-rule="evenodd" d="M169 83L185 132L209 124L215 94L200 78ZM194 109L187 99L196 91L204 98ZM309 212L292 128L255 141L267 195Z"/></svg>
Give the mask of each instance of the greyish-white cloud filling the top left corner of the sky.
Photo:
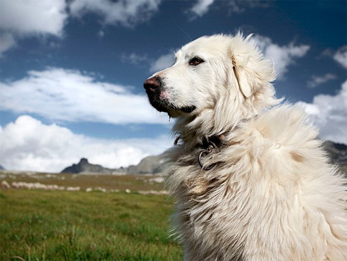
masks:
<svg viewBox="0 0 347 261"><path fill-rule="evenodd" d="M28 35L62 36L67 18L65 0L0 1L1 51L14 46L15 39Z"/></svg>

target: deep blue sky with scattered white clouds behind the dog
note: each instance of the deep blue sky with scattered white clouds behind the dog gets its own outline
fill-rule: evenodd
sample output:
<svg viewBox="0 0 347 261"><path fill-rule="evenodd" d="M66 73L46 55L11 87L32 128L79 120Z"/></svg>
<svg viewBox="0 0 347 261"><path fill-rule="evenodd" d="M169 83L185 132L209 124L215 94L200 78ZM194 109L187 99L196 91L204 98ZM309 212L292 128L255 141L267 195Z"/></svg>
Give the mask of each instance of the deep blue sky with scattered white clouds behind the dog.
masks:
<svg viewBox="0 0 347 261"><path fill-rule="evenodd" d="M59 172L88 157L116 168L172 143L143 81L202 35L253 36L279 97L346 143L345 1L2 0L0 164Z"/></svg>

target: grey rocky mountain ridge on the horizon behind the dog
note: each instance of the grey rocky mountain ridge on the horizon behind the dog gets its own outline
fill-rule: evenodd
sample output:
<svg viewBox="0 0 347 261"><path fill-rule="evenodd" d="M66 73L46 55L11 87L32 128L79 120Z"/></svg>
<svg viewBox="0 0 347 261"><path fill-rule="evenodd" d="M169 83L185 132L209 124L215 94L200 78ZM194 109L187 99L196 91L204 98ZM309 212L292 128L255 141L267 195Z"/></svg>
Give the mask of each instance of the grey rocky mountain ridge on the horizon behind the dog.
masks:
<svg viewBox="0 0 347 261"><path fill-rule="evenodd" d="M340 165L340 170L347 176L347 146L344 144L324 141L323 146L330 156L332 164ZM91 164L88 159L82 158L78 164L72 164L61 173L104 173L112 175L121 174L158 174L167 169L171 163L165 162L163 154L143 158L139 164L126 168L108 169L102 165Z"/></svg>

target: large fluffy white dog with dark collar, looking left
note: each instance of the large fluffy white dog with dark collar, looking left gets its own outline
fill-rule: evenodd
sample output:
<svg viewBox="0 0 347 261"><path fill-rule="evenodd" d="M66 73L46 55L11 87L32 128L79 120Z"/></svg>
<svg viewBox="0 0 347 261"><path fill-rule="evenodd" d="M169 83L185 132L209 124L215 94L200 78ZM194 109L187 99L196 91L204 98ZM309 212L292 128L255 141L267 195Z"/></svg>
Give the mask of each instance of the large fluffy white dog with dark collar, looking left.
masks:
<svg viewBox="0 0 347 261"><path fill-rule="evenodd" d="M177 117L167 184L184 258L347 260L345 180L305 114L274 106L274 68L249 38L196 39L144 83Z"/></svg>

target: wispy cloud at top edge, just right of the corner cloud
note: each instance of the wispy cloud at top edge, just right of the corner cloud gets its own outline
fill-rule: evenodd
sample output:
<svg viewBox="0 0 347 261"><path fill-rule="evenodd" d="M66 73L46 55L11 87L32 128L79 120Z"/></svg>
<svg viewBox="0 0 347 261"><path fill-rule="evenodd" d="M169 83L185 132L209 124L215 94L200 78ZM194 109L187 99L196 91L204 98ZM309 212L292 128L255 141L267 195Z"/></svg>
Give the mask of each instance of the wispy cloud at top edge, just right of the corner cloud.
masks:
<svg viewBox="0 0 347 261"><path fill-rule="evenodd" d="M138 22L148 20L158 10L160 2L161 0L78 0L70 4L70 13L81 17L93 12L102 15L104 23L134 26Z"/></svg>

